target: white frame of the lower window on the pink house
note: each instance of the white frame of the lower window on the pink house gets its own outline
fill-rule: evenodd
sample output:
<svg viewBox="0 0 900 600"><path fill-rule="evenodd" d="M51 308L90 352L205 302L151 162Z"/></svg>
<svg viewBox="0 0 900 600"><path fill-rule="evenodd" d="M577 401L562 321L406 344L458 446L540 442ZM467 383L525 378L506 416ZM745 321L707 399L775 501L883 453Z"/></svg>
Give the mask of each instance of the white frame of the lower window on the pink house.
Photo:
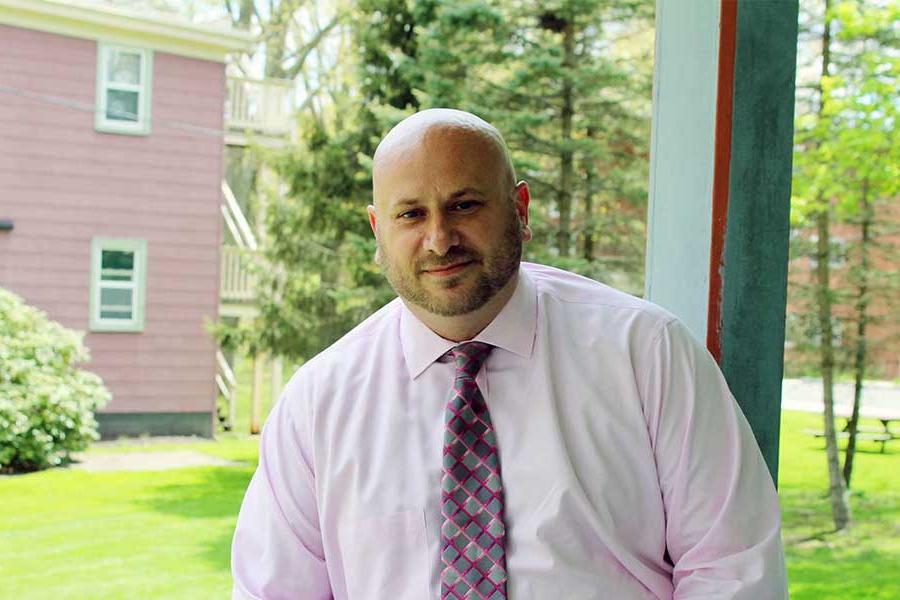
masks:
<svg viewBox="0 0 900 600"><path fill-rule="evenodd" d="M101 259L104 250L134 252L134 277L132 281L101 281ZM136 238L103 238L91 240L90 330L91 331L143 331L144 298L147 282L147 242ZM131 319L100 317L100 290L125 288L131 295Z"/></svg>

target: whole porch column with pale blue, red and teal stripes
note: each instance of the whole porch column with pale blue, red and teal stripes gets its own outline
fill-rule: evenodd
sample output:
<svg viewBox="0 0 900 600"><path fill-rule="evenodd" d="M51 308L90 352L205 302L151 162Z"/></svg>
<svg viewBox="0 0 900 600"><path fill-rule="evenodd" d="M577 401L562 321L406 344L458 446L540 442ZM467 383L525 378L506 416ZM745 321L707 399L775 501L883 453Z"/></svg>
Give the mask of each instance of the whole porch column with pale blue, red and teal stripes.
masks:
<svg viewBox="0 0 900 600"><path fill-rule="evenodd" d="M658 0L646 297L719 360L777 481L798 0Z"/></svg>

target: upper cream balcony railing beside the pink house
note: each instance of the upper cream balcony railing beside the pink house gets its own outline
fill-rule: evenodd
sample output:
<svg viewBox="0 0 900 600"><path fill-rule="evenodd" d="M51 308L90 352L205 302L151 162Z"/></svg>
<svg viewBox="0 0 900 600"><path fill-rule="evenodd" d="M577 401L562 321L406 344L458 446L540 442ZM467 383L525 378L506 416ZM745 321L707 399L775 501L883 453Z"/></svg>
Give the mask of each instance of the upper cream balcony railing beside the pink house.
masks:
<svg viewBox="0 0 900 600"><path fill-rule="evenodd" d="M286 136L291 131L294 83L229 77L225 125L232 131Z"/></svg>

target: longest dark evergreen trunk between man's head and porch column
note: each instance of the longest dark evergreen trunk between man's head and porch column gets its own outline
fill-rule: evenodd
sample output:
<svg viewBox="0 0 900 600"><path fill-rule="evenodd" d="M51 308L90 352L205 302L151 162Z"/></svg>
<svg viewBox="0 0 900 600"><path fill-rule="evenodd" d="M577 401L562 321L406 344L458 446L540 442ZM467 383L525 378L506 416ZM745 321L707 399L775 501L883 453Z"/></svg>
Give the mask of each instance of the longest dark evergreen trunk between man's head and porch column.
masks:
<svg viewBox="0 0 900 600"><path fill-rule="evenodd" d="M572 72L575 64L575 31L569 18L563 28L563 89L561 111L561 140L559 161L559 229L556 246L560 256L569 256L572 238L572 117L575 114L572 98Z"/></svg>

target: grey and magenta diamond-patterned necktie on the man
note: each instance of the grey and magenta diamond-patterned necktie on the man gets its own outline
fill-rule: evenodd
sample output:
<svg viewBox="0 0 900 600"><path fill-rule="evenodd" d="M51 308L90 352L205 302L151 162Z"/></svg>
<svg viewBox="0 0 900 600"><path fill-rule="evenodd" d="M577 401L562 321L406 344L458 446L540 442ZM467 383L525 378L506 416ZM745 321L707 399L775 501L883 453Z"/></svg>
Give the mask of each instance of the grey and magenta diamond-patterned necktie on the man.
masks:
<svg viewBox="0 0 900 600"><path fill-rule="evenodd" d="M506 598L506 527L497 438L475 376L493 346L460 344L444 416L441 599Z"/></svg>

